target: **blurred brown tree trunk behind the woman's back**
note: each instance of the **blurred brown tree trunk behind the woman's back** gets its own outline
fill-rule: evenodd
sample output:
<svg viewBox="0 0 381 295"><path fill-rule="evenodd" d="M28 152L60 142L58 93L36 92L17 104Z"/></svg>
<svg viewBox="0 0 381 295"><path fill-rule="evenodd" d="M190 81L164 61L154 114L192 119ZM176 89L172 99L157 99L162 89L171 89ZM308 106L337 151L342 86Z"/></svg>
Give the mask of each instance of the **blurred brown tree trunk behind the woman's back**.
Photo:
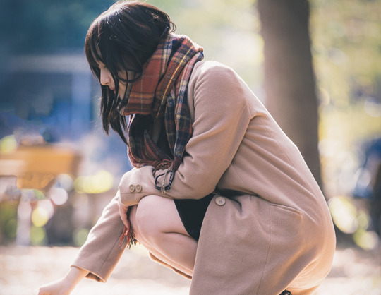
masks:
<svg viewBox="0 0 381 295"><path fill-rule="evenodd" d="M310 6L303 0L258 0L258 11L265 41L266 107L321 187Z"/></svg>

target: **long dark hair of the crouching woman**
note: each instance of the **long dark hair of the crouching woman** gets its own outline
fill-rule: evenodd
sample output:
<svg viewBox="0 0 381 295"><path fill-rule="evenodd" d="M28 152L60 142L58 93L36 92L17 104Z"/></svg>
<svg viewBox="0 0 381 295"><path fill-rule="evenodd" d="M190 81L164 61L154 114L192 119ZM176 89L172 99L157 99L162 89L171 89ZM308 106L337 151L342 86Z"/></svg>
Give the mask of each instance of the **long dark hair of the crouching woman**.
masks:
<svg viewBox="0 0 381 295"><path fill-rule="evenodd" d="M90 25L85 40L85 52L92 73L100 81L97 61L110 71L115 83L115 92L101 85L101 116L104 131L109 126L127 143L126 117L116 107L121 98L117 95L119 81L133 83L143 73L143 64L155 52L159 41L176 29L167 13L155 6L139 1L119 1L104 11ZM133 71L135 78L128 80L120 73Z"/></svg>

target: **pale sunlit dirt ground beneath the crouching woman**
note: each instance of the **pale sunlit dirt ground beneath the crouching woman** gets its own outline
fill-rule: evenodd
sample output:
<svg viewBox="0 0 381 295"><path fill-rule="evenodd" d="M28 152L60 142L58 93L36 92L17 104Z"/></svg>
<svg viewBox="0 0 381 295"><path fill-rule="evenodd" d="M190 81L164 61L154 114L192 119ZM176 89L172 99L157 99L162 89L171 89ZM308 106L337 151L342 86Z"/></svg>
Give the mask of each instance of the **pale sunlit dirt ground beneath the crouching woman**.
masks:
<svg viewBox="0 0 381 295"><path fill-rule="evenodd" d="M78 248L0 246L0 295L37 294L65 275ZM152 262L141 246L126 250L106 284L84 279L73 295L185 295L191 282ZM332 271L316 295L381 295L381 248L338 246Z"/></svg>

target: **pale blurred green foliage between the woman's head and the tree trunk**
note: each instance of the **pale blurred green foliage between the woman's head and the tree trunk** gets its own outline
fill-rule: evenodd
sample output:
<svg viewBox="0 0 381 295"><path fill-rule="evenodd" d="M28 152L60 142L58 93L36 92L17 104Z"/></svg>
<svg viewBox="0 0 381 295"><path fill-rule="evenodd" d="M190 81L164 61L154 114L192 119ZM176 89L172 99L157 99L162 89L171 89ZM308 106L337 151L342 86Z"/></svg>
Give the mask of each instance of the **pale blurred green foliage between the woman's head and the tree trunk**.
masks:
<svg viewBox="0 0 381 295"><path fill-rule="evenodd" d="M150 0L169 14L176 33L205 49L205 59L231 66L257 90L262 83L263 41L254 0ZM262 98L262 97L261 97Z"/></svg>

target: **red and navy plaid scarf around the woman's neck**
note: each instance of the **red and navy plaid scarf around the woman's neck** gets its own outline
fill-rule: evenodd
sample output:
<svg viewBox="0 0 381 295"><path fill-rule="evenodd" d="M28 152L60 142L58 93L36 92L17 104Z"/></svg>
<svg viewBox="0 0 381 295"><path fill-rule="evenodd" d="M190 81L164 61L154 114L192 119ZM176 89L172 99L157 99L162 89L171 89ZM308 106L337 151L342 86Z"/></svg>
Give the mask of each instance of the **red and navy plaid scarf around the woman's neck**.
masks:
<svg viewBox="0 0 381 295"><path fill-rule="evenodd" d="M156 176L155 187L165 193L171 189L174 172L183 159L186 143L192 136L188 109L188 82L193 66L203 59L203 49L184 35L169 34L143 66L142 77L121 100L120 114L130 115L128 157L134 167L153 166L166 173ZM155 119L164 118L172 155L160 150L151 139ZM165 178L170 175L169 184ZM162 185L157 185L164 175Z"/></svg>

